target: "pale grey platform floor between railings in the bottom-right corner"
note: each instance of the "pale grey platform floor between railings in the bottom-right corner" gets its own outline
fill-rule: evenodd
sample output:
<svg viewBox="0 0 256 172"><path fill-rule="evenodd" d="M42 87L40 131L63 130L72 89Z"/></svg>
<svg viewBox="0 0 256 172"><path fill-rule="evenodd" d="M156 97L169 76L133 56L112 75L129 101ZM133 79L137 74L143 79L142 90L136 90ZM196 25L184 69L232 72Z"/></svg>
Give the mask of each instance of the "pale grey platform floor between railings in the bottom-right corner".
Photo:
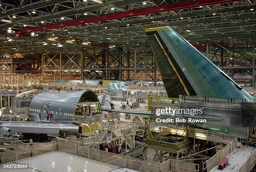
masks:
<svg viewBox="0 0 256 172"><path fill-rule="evenodd" d="M236 148L234 152L227 156L229 158L229 164L227 167L225 167L223 170L219 170L218 165L216 165L210 172L238 172L239 168L254 150L255 147L248 145L245 145L242 148Z"/></svg>

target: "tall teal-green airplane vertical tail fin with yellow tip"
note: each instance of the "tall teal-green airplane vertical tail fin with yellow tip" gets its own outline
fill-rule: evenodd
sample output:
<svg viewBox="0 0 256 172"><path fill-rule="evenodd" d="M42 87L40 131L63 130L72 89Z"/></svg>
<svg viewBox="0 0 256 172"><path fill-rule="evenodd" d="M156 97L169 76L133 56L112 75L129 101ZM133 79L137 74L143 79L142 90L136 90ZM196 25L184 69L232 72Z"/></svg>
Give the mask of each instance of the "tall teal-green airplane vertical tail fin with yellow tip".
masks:
<svg viewBox="0 0 256 172"><path fill-rule="evenodd" d="M254 101L172 28L149 28L146 33L169 97L188 94Z"/></svg>

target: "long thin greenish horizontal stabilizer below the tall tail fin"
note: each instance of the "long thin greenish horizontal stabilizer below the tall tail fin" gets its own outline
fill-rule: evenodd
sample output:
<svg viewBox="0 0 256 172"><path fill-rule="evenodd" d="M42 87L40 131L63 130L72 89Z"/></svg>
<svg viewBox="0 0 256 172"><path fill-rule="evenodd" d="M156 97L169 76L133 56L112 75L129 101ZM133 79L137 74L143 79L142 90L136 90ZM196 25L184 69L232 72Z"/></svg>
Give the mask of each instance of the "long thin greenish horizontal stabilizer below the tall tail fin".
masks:
<svg viewBox="0 0 256 172"><path fill-rule="evenodd" d="M127 110L113 110L113 109L101 109L101 111L109 111L109 112L119 112L119 113L124 113L124 114L138 114L138 115L152 115L156 116L154 112L151 111L127 111ZM189 114L175 114L174 116L170 114L161 114L159 117L168 117L168 118L192 118L192 119L206 119L207 121L222 121L224 120L220 116L216 115L194 115L191 116Z"/></svg>

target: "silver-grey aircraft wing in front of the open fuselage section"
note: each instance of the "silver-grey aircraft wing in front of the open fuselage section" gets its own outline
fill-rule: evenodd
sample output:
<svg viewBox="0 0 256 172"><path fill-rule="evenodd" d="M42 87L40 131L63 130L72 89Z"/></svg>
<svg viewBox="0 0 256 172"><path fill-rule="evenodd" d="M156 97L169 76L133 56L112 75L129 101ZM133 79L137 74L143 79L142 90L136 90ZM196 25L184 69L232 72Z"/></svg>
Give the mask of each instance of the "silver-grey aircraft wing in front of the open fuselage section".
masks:
<svg viewBox="0 0 256 172"><path fill-rule="evenodd" d="M82 131L82 126L68 122L53 124L44 122L0 121L1 127L6 127L12 132L35 134L59 134L60 131L79 133Z"/></svg>

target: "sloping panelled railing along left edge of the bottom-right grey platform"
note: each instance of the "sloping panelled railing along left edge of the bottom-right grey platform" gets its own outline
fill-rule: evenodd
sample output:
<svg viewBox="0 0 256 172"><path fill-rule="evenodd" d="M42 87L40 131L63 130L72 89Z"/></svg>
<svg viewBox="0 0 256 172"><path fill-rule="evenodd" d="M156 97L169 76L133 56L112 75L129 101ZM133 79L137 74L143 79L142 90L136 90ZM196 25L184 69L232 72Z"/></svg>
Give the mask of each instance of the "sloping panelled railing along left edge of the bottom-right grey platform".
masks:
<svg viewBox="0 0 256 172"><path fill-rule="evenodd" d="M207 168L207 171L210 171L213 167L215 167L218 164L218 162L220 162L223 159L223 157L227 156L236 149L236 143L237 138L231 141L229 144L227 144L223 149L221 149L219 152L213 155L206 162L204 162L203 170Z"/></svg>

